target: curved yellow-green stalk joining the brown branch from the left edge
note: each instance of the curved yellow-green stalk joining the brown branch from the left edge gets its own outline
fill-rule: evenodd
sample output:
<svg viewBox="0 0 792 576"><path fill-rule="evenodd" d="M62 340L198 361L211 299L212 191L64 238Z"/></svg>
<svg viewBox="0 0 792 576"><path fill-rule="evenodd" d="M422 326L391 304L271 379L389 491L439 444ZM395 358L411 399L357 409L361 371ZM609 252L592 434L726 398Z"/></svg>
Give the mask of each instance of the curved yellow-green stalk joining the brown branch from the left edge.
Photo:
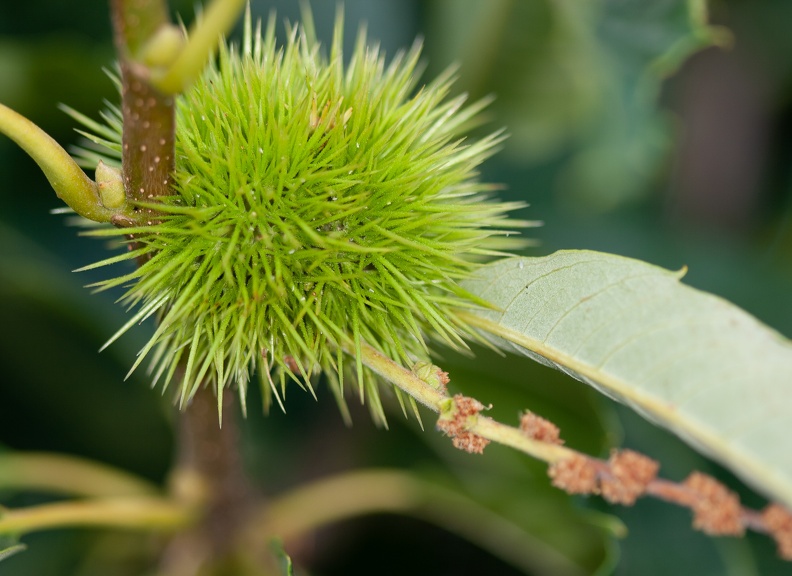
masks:
<svg viewBox="0 0 792 576"><path fill-rule="evenodd" d="M96 182L49 134L24 116L0 104L0 133L16 142L35 160L58 198L77 214L96 222L110 222L118 213L102 206Z"/></svg>

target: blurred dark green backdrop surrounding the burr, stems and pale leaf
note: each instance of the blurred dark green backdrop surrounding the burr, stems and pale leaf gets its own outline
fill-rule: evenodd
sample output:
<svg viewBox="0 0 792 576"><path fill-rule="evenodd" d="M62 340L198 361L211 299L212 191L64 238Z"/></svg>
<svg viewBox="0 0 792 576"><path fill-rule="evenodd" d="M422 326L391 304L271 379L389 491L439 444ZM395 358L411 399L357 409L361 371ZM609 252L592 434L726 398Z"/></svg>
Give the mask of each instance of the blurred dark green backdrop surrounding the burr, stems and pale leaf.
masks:
<svg viewBox="0 0 792 576"><path fill-rule="evenodd" d="M328 38L335 2L312 5ZM192 20L192 2L172 7ZM273 9L280 19L299 16L296 0L252 7L263 17ZM496 96L487 128L511 136L483 178L529 202L521 216L544 221L529 231L538 241L529 254L589 248L688 266L689 284L792 335L792 2L712 2L710 21L725 27L717 30L703 25L702 8L683 0L345 2L348 40L360 22L388 54L420 37L427 77L457 63L459 91ZM78 136L57 104L96 115L103 100L115 101L102 72L113 58L104 0L0 2L0 102L64 145ZM79 454L163 481L173 450L170 397L151 390L142 370L124 380L151 327L98 354L125 313L113 304L117 295L82 288L107 272L70 272L102 258L106 246L49 214L57 198L5 138L0 207L0 449ZM635 448L659 459L666 477L700 469L748 505L764 503L667 433L559 373L482 351L475 360L439 353L452 388L492 402L496 418L516 422L531 408L575 448ZM472 508L467 538L379 515L328 527L289 550L311 574L792 574L766 538L708 538L690 529L688 512L658 502L612 508L568 498L548 486L543 466L500 447L482 457L458 453L431 431L431 417L424 432L395 403L390 430L376 428L365 408L353 409L347 428L328 391L318 395L315 402L295 389L288 414L254 409L243 423L246 461L263 493L334 472L398 467L499 515L513 530L491 536L514 553L488 551ZM7 506L45 500L0 494ZM626 537L613 537L613 517ZM455 522L448 511L439 523ZM30 549L0 573L142 574L158 545L93 530L25 542Z"/></svg>

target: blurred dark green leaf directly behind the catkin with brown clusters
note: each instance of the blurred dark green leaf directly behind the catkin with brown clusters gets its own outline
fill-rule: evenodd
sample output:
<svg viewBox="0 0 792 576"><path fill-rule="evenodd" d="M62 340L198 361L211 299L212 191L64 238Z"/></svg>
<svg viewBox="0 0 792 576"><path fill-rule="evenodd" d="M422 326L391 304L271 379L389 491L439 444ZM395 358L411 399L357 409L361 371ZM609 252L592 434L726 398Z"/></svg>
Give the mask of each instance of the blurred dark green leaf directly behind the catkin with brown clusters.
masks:
<svg viewBox="0 0 792 576"><path fill-rule="evenodd" d="M612 415L601 409L597 394L586 386L544 366L526 365L517 356L503 357L478 347L473 353L471 357L442 350L435 361L448 371L450 390L491 404L488 414L495 419L516 424L520 413L530 409L557 424L564 439L578 449L601 454L618 442L611 430ZM429 428L431 423L425 425ZM553 488L544 463L496 445L482 456L471 456L450 449L448 438L428 430L417 432L416 439L433 448L435 459L447 468L441 472L428 467L422 477L450 491L462 490L586 573L609 562L614 540L623 535L618 531L621 523L613 517L594 518L591 510Z"/></svg>

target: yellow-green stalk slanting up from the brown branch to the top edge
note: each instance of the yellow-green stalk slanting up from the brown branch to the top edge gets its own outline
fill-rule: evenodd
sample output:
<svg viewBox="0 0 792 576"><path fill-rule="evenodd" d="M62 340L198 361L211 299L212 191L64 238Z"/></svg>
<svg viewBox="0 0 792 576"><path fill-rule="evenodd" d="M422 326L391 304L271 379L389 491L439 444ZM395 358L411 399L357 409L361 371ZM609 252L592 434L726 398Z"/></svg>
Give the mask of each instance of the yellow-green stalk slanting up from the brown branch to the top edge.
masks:
<svg viewBox="0 0 792 576"><path fill-rule="evenodd" d="M187 44L168 70L161 76L151 78L152 85L165 94L183 92L201 75L223 34L237 21L245 2L246 0L214 0L206 12L196 19Z"/></svg>

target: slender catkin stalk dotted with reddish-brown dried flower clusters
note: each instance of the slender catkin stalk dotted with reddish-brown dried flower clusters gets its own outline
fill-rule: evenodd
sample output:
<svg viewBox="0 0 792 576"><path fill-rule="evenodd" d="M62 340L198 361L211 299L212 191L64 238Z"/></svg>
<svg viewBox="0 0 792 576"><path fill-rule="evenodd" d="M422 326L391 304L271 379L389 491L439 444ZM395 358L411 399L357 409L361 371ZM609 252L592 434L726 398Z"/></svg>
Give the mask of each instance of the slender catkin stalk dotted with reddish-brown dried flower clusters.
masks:
<svg viewBox="0 0 792 576"><path fill-rule="evenodd" d="M762 512L744 508L734 493L698 472L681 484L657 478L658 463L632 450L613 451L608 460L593 458L562 446L558 428L535 414L523 414L519 428L508 426L481 414L484 405L475 398L449 397L444 387L438 389L429 379L421 378L424 374L407 370L370 347L362 347L361 359L438 412L438 429L457 448L480 453L489 442L510 446L547 462L553 485L566 492L601 494L609 502L625 505L641 496L653 496L690 508L693 527L711 535L741 535L746 529L769 534L779 555L792 560L792 513L780 505L770 505Z"/></svg>

